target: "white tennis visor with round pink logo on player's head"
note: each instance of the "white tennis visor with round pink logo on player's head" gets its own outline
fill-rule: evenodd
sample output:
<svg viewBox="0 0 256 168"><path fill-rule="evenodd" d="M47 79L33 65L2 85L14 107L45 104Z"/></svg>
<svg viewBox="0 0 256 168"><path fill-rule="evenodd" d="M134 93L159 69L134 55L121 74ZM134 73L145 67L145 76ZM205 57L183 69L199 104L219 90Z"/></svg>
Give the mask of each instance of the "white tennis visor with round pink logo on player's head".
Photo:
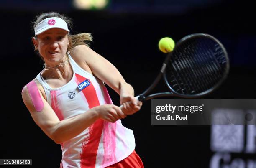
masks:
<svg viewBox="0 0 256 168"><path fill-rule="evenodd" d="M47 31L50 28L61 28L69 32L67 23L64 20L62 20L61 18L53 17L46 18L36 25L35 36L43 33L44 31Z"/></svg>

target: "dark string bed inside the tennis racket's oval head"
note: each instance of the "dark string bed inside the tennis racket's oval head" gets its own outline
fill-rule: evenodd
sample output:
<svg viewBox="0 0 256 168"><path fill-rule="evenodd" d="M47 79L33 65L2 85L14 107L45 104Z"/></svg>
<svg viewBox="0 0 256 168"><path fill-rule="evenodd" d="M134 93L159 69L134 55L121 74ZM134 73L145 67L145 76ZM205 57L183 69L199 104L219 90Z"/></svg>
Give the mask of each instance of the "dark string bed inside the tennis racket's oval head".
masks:
<svg viewBox="0 0 256 168"><path fill-rule="evenodd" d="M199 94L223 77L226 56L209 38L190 39L175 48L166 68L169 85L179 94Z"/></svg>

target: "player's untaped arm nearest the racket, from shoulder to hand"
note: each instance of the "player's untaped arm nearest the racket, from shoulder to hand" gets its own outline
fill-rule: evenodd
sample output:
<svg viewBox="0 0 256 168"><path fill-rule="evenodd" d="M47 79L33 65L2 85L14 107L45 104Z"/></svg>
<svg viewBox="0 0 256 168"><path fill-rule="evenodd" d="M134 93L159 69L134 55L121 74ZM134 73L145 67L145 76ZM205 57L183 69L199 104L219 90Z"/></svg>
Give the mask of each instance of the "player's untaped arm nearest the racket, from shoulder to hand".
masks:
<svg viewBox="0 0 256 168"><path fill-rule="evenodd" d="M88 66L93 75L114 89L120 95L120 104L132 102L125 104L126 107L132 108L133 111L140 109L141 103L134 98L133 87L126 83L118 69L108 60L85 45L76 46L71 55L80 64Z"/></svg>

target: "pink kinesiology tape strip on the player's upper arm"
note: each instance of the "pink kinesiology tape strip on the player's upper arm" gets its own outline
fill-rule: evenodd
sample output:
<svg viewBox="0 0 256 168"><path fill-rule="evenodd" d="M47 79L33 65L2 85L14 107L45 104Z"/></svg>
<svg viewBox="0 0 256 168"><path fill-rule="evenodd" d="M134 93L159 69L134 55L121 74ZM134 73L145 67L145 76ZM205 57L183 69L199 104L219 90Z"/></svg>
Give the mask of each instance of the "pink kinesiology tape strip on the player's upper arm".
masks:
<svg viewBox="0 0 256 168"><path fill-rule="evenodd" d="M41 98L41 95L38 91L37 85L35 81L31 81L27 84L28 93L31 97L32 103L37 112L41 112L44 108L44 103Z"/></svg>

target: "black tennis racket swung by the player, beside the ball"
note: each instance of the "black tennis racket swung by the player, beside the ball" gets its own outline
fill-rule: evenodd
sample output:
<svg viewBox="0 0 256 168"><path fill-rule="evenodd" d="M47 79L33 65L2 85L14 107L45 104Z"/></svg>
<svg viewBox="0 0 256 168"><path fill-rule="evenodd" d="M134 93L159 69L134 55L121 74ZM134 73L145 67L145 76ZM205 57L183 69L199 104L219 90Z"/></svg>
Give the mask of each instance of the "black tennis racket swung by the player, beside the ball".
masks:
<svg viewBox="0 0 256 168"><path fill-rule="evenodd" d="M144 102L164 96L201 97L218 88L228 71L228 53L220 41L208 34L192 34L178 41L155 81L136 99ZM162 76L170 92L149 94Z"/></svg>

